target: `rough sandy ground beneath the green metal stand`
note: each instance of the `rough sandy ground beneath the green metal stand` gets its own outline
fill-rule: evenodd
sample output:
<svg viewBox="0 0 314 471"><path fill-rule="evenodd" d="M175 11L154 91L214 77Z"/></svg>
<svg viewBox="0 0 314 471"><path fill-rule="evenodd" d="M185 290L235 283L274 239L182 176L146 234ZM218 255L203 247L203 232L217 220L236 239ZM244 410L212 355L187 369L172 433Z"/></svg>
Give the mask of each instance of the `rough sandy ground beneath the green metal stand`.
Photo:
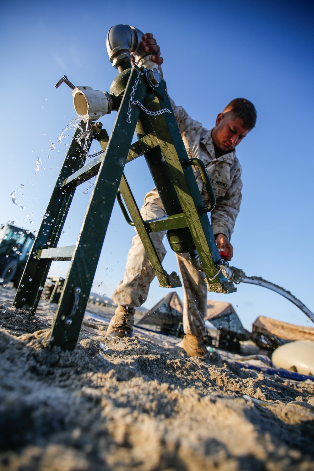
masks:
<svg viewBox="0 0 314 471"><path fill-rule="evenodd" d="M1 471L314 470L314 382L138 328L109 339L93 305L77 348L50 349L56 306L29 316L13 295L0 288Z"/></svg>

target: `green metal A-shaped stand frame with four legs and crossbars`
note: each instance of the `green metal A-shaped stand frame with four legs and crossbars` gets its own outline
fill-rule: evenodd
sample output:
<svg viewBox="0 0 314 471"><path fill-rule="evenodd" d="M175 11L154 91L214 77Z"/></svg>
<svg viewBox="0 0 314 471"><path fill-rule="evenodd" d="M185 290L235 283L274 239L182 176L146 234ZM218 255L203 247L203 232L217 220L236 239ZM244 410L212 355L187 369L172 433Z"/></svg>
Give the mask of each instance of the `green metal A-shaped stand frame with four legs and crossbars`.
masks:
<svg viewBox="0 0 314 471"><path fill-rule="evenodd" d="M130 94L137 75L137 71L129 67L113 82L110 96L118 114L110 138L105 130L90 131L88 138L82 137L80 128L75 131L12 304L35 312L52 260L71 260L49 337L51 345L63 349L73 349L77 342L117 195L126 219L137 229L160 286L171 288L181 283L175 272L169 275L162 268L150 234L156 231L169 231L168 235L181 231L183 234L185 231L199 253L209 290L235 291L221 272L217 275L220 255L204 212L208 210L204 208L193 170L187 165L188 155L174 114L149 116L138 106L131 106L129 116ZM165 82L153 86L144 74L139 77L133 99L143 103L149 111L172 110ZM131 144L134 132L138 140ZM93 139L99 141L104 152L86 163ZM125 164L140 155L145 156L161 197L166 212L163 218L142 219L123 174ZM58 247L76 187L96 175L76 244Z"/></svg>

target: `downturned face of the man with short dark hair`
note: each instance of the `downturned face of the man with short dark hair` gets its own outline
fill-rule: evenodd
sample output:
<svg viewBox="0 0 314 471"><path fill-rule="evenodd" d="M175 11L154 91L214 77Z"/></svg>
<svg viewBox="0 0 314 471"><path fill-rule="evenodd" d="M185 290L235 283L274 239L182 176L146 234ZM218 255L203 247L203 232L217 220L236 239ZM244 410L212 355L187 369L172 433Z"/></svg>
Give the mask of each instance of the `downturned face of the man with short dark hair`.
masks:
<svg viewBox="0 0 314 471"><path fill-rule="evenodd" d="M220 150L228 151L238 146L249 132L243 127L242 120L229 111L218 114L211 136Z"/></svg>

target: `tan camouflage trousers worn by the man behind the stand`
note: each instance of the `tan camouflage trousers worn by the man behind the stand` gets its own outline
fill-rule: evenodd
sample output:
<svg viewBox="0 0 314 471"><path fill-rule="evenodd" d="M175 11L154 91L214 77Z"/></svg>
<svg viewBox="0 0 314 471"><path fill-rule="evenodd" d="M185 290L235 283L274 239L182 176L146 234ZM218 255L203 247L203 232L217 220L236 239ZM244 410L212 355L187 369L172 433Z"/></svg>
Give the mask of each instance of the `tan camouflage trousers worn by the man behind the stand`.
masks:
<svg viewBox="0 0 314 471"><path fill-rule="evenodd" d="M161 218L165 211L156 203L146 203L141 208L144 220ZM162 262L166 249L162 244L165 231L151 233L152 242ZM207 303L205 274L193 267L188 253L176 253L181 280L184 287L183 328L185 333L205 336L204 324ZM124 278L118 284L112 299L122 306L141 306L147 299L149 285L155 273L145 252L144 245L135 235L128 253Z"/></svg>

